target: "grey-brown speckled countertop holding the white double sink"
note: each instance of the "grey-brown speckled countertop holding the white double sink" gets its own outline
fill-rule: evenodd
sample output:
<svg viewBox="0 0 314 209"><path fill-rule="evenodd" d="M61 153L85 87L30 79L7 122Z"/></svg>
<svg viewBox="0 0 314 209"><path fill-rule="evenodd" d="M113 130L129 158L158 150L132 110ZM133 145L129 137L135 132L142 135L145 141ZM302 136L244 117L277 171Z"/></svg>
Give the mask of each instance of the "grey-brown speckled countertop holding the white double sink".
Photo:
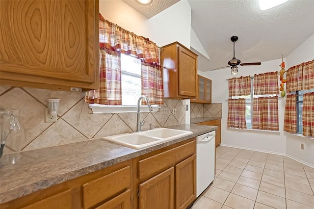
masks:
<svg viewBox="0 0 314 209"><path fill-rule="evenodd" d="M15 164L0 162L0 203L25 196L113 164L215 130L215 126L183 124L167 127L193 134L142 150L134 150L104 139L26 151Z"/></svg>

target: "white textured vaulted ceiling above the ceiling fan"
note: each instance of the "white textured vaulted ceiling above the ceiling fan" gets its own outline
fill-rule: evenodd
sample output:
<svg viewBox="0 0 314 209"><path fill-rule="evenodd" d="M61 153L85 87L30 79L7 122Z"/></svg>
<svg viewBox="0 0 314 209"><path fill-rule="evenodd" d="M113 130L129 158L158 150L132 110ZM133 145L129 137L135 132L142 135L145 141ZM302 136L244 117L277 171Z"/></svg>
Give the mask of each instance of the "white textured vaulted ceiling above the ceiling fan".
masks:
<svg viewBox="0 0 314 209"><path fill-rule="evenodd" d="M177 1L154 0L149 11L158 13L161 5L166 3L167 8ZM191 27L210 58L199 56L201 71L228 65L233 57L233 35L238 36L235 56L245 63L279 59L281 54L286 57L314 34L314 0L288 0L265 11L260 10L258 0L188 2Z"/></svg>

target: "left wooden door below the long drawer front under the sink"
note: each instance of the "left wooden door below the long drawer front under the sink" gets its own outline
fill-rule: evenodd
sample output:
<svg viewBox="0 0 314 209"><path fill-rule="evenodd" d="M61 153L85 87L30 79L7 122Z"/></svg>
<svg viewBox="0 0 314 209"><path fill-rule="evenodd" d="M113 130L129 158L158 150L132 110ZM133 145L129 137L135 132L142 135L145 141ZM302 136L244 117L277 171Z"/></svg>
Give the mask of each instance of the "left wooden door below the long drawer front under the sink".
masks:
<svg viewBox="0 0 314 209"><path fill-rule="evenodd" d="M139 209L174 208L174 167L139 185Z"/></svg>

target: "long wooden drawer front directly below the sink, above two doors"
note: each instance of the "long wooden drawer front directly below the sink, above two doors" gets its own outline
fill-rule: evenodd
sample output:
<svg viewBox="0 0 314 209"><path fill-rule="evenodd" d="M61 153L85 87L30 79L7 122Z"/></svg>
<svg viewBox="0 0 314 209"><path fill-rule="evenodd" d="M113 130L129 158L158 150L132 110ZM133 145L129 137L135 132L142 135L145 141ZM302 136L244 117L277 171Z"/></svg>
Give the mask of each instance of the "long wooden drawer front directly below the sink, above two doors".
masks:
<svg viewBox="0 0 314 209"><path fill-rule="evenodd" d="M191 141L166 152L140 160L138 162L139 178L143 179L153 173L160 173L163 169L170 167L195 153L196 142Z"/></svg>

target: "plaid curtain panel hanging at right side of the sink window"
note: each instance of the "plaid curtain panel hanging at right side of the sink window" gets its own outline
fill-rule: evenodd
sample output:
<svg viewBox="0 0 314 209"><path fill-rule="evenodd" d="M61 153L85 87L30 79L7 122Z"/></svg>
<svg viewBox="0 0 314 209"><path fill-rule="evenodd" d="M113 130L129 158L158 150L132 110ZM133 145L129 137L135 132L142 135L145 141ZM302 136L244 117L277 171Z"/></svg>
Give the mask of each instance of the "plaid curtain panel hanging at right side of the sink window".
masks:
<svg viewBox="0 0 314 209"><path fill-rule="evenodd" d="M163 104L163 84L161 69L157 65L142 62L142 95L146 95L150 104ZM146 101L142 100L142 104Z"/></svg>

